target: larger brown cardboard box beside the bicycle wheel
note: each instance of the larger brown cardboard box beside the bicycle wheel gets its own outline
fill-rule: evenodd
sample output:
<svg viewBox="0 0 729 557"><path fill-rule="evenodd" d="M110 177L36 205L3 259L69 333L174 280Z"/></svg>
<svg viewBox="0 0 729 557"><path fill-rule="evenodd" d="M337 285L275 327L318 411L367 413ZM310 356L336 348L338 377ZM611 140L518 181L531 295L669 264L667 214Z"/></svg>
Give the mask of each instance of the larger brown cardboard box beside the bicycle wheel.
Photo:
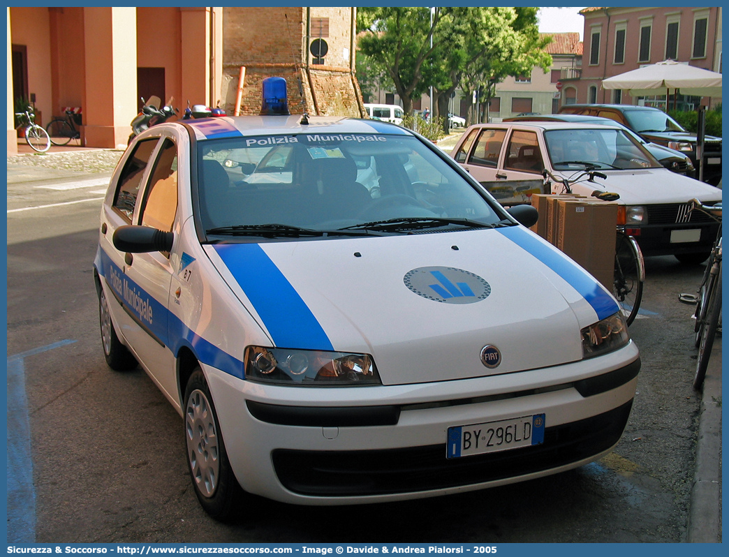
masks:
<svg viewBox="0 0 729 557"><path fill-rule="evenodd" d="M617 203L558 199L555 246L612 292Z"/></svg>

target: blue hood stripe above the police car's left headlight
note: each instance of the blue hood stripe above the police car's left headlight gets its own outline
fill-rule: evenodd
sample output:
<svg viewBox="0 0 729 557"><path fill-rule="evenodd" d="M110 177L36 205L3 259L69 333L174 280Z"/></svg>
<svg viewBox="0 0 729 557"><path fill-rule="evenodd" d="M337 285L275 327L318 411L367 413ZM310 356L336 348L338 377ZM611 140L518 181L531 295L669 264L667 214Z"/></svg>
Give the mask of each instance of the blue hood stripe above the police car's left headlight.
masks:
<svg viewBox="0 0 729 557"><path fill-rule="evenodd" d="M332 342L292 284L258 244L213 246L281 348L333 350Z"/></svg>

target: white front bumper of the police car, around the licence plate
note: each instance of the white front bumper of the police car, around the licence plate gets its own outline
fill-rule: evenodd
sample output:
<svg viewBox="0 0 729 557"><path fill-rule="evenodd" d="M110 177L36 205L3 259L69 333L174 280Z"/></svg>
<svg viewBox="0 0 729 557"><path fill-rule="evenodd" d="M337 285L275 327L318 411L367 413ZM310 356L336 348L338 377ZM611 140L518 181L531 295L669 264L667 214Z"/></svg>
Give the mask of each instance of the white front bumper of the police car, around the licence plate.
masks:
<svg viewBox="0 0 729 557"><path fill-rule="evenodd" d="M620 440L639 367L630 343L593 360L420 385L305 389L206 373L243 489L346 505L497 486L598 459ZM310 397L319 400L303 405ZM542 445L446 459L449 426L537 413L545 413Z"/></svg>

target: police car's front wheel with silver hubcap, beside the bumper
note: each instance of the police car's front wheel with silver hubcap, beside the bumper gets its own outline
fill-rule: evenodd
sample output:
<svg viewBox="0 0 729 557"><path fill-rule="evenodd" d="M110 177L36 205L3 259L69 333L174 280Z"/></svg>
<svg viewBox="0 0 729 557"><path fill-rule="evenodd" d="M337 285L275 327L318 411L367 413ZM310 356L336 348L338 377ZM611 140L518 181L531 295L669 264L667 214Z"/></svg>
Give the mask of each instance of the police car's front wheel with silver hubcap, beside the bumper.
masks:
<svg viewBox="0 0 729 557"><path fill-rule="evenodd" d="M219 521L233 518L244 492L230 467L213 397L200 366L184 395L187 467L200 506Z"/></svg>

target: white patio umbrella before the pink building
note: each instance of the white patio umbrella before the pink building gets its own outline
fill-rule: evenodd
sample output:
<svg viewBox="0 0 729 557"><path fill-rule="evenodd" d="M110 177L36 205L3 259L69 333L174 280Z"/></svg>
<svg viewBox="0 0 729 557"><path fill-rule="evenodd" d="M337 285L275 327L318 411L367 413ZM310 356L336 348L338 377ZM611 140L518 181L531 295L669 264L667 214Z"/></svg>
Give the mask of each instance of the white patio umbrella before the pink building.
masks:
<svg viewBox="0 0 729 557"><path fill-rule="evenodd" d="M656 89L665 89L666 94L675 94L678 90L682 95L720 97L722 74L666 60L603 79L602 86L627 89L631 96L655 95Z"/></svg>

